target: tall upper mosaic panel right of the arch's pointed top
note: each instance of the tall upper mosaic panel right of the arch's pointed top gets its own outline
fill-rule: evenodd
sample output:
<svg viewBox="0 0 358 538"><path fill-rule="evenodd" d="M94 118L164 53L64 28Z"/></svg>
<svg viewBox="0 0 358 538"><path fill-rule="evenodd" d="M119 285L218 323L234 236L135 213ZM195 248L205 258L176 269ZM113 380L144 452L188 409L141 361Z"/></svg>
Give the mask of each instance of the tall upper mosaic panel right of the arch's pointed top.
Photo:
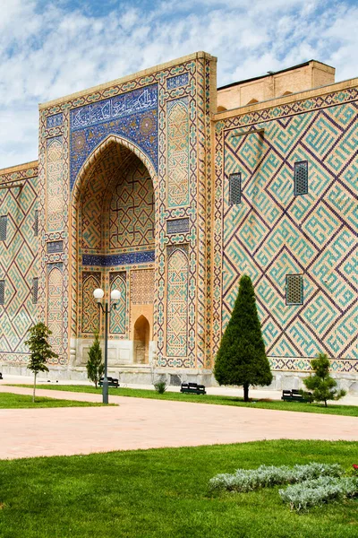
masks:
<svg viewBox="0 0 358 538"><path fill-rule="evenodd" d="M188 100L167 104L167 202L169 207L189 203Z"/></svg>

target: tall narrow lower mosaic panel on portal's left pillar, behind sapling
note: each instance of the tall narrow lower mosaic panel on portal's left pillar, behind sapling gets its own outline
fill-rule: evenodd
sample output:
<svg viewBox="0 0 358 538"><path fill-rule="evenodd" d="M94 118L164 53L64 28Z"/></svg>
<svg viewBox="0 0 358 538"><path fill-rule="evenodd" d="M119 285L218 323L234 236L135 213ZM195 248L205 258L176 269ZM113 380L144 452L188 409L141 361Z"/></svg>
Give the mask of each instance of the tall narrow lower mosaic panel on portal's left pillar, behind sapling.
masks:
<svg viewBox="0 0 358 538"><path fill-rule="evenodd" d="M51 359L50 364L63 363L63 301L64 282L62 264L47 265L47 326L52 331L48 341L58 359Z"/></svg>

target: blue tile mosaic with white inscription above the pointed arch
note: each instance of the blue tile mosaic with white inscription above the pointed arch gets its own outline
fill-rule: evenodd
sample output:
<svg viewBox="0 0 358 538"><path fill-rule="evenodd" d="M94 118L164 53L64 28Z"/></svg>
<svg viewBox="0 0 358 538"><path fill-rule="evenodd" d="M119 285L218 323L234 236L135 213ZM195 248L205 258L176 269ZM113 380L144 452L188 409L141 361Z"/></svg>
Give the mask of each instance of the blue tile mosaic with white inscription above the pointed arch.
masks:
<svg viewBox="0 0 358 538"><path fill-rule="evenodd" d="M71 111L71 189L82 164L108 134L137 144L158 171L158 84Z"/></svg>

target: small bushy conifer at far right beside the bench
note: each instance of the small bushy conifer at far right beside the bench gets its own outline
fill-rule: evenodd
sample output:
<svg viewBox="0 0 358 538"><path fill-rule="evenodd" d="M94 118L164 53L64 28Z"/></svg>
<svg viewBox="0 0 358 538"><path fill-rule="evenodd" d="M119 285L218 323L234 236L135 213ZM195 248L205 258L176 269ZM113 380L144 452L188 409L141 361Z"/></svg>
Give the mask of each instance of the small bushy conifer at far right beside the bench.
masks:
<svg viewBox="0 0 358 538"><path fill-rule="evenodd" d="M337 390L337 381L329 376L329 359L326 353L320 353L317 359L311 360L314 375L303 379L303 383L311 390L311 395L303 391L307 399L314 402L324 402L327 407L328 400L339 400L345 396L345 390Z"/></svg>

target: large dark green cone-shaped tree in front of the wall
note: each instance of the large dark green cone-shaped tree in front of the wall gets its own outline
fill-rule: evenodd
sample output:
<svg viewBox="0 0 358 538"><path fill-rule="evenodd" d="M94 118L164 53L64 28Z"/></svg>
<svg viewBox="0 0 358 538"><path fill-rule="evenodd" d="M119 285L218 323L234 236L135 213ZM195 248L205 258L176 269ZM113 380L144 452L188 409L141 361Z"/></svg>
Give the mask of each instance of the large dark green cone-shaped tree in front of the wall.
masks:
<svg viewBox="0 0 358 538"><path fill-rule="evenodd" d="M242 385L245 402L249 401L250 385L264 386L272 381L255 293L250 276L245 274L217 351L214 375L219 385Z"/></svg>

